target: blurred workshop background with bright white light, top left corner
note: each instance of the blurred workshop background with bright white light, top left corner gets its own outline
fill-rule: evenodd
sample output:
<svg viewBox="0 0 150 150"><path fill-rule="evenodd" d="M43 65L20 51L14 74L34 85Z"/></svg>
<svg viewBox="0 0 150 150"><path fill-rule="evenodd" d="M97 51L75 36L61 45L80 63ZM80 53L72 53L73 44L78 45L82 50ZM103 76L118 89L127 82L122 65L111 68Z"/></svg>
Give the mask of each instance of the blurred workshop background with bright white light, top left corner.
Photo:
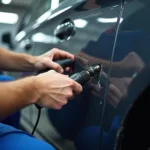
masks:
<svg viewBox="0 0 150 150"><path fill-rule="evenodd" d="M4 32L16 34L19 23L31 7L33 0L1 0L0 1L0 35ZM3 43L1 43L3 44ZM6 45L3 45L6 46Z"/></svg>

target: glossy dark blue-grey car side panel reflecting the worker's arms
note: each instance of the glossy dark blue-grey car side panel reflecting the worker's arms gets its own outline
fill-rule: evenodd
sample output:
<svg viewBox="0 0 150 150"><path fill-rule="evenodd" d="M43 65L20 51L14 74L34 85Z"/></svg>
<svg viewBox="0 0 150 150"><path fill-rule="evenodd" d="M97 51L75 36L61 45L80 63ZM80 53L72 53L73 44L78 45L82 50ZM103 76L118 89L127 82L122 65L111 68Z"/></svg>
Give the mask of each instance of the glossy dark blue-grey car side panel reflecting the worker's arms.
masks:
<svg viewBox="0 0 150 150"><path fill-rule="evenodd" d="M133 86L138 74L149 64L149 7L148 0L64 1L45 21L37 26L34 22L23 29L21 32L26 34L15 41L16 52L40 55L57 47L75 54L79 64L75 66L74 73L94 64L103 64L101 87L98 84L92 87L89 82L83 93L62 110L49 111L56 130L63 137L75 141L77 149L82 146L100 149L101 142L103 150L113 149L120 122L125 119L130 104L149 83L139 78L136 82L137 86L138 82L140 84L139 89L136 91L137 86ZM59 14L62 9L65 11ZM121 11L123 15L118 22ZM68 18L75 23L76 34L60 42L54 31ZM28 43L31 47L26 49ZM90 127L95 127L97 132L88 138L94 131L86 132ZM104 135L99 139L101 127ZM84 137L83 133L87 136ZM49 138L47 133L42 134ZM107 142L102 138L106 138ZM91 145L85 144L91 139L94 139Z"/></svg>

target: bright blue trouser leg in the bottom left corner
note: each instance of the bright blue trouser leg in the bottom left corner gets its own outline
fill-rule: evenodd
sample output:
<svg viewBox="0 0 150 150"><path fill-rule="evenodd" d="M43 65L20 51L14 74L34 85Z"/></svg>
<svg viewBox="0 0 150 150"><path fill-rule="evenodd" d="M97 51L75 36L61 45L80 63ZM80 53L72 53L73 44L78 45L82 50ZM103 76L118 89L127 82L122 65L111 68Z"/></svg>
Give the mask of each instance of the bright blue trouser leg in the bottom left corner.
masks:
<svg viewBox="0 0 150 150"><path fill-rule="evenodd" d="M54 150L48 143L0 123L0 150Z"/></svg>

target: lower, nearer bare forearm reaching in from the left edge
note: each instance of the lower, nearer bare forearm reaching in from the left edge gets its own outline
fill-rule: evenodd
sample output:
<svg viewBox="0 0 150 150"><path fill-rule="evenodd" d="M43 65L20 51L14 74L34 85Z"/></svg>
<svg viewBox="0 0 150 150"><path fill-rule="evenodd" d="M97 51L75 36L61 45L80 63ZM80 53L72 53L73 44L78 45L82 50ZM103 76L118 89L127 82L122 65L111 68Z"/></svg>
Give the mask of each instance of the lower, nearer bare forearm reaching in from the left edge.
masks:
<svg viewBox="0 0 150 150"><path fill-rule="evenodd" d="M38 93L34 84L34 77L0 82L0 118L36 103Z"/></svg>

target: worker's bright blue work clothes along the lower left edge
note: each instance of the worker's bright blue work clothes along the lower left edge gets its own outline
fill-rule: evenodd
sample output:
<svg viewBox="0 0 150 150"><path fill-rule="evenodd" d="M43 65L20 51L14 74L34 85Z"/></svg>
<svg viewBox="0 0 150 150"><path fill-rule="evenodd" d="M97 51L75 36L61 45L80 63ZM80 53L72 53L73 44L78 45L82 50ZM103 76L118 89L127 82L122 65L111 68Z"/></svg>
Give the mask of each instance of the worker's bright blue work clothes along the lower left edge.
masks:
<svg viewBox="0 0 150 150"><path fill-rule="evenodd" d="M13 78L0 75L1 82L10 80L13 80ZM38 140L24 131L18 130L19 118L19 112L6 119L1 118L0 150L54 150L48 143Z"/></svg>

